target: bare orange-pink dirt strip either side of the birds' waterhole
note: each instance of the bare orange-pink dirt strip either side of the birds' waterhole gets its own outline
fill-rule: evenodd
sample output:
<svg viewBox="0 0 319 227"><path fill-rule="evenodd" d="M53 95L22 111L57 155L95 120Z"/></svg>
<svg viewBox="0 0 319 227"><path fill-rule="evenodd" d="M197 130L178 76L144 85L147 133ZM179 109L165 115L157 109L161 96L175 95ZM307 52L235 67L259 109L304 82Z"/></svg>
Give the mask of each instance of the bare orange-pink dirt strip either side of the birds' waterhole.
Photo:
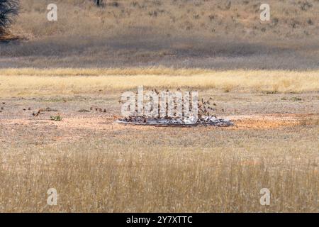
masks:
<svg viewBox="0 0 319 227"><path fill-rule="evenodd" d="M272 129L279 127L289 127L300 125L305 118L318 118L314 114L263 114L263 115L237 115L225 116L235 123L235 126L228 127L229 130L246 129ZM50 121L49 119L18 118L1 120L1 128L6 128L5 133L1 133L6 140L10 134L21 134L28 138L32 136L35 140L52 140L52 142L63 142L78 140L96 131L114 132L125 130L161 130L155 126L132 126L116 123L117 116L76 116L63 118L62 121ZM213 126L196 127L216 130ZM187 130L187 129L185 129ZM28 133L22 133L26 131ZM26 135L24 135L26 134ZM37 137L38 135L38 137Z"/></svg>

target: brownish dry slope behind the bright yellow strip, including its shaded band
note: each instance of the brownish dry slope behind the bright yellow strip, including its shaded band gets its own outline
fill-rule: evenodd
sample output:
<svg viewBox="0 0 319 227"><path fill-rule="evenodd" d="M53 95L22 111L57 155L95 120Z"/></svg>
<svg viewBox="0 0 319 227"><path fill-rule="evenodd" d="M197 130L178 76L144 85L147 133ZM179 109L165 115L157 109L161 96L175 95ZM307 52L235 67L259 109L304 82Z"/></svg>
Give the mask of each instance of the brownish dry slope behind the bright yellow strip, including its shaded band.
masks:
<svg viewBox="0 0 319 227"><path fill-rule="evenodd" d="M0 67L318 70L319 1L21 0Z"/></svg>

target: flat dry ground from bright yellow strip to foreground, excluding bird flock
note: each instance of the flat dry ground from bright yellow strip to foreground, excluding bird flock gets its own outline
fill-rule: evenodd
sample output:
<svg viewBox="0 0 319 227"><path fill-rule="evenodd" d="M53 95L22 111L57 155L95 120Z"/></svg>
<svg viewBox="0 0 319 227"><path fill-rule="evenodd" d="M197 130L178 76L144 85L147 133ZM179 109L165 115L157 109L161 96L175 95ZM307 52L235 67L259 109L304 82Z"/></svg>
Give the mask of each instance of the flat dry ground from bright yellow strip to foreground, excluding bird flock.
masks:
<svg viewBox="0 0 319 227"><path fill-rule="evenodd" d="M137 85L196 89L235 126L115 123ZM319 211L316 71L4 69L0 88L0 211Z"/></svg>

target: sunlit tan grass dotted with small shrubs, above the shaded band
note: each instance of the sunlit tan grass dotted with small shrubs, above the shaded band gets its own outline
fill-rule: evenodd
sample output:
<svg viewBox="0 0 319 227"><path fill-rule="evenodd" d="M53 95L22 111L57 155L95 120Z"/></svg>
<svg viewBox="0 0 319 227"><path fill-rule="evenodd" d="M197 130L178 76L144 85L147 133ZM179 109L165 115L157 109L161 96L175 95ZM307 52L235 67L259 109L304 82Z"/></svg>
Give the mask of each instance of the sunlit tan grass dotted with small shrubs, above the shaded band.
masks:
<svg viewBox="0 0 319 227"><path fill-rule="evenodd" d="M210 38L318 37L318 1L276 1L272 23L259 22L260 4L255 1L94 1L55 0L58 23L45 20L50 1L21 0L21 12L12 30L28 38L52 35L145 34L199 35ZM115 4L117 3L117 4ZM305 9L306 4L306 9ZM308 7L307 7L308 6ZM310 22L310 21L311 22Z"/></svg>

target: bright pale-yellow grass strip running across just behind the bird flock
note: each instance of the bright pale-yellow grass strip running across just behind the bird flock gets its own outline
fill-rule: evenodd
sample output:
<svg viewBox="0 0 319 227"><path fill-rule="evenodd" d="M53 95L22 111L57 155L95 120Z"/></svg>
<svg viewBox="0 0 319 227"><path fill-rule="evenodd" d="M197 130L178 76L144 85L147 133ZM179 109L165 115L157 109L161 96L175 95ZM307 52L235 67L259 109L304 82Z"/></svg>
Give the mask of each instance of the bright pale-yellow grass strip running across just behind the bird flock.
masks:
<svg viewBox="0 0 319 227"><path fill-rule="evenodd" d="M76 77L77 76L77 77ZM0 96L94 94L147 88L222 89L225 92L317 92L319 71L128 69L6 69Z"/></svg>

